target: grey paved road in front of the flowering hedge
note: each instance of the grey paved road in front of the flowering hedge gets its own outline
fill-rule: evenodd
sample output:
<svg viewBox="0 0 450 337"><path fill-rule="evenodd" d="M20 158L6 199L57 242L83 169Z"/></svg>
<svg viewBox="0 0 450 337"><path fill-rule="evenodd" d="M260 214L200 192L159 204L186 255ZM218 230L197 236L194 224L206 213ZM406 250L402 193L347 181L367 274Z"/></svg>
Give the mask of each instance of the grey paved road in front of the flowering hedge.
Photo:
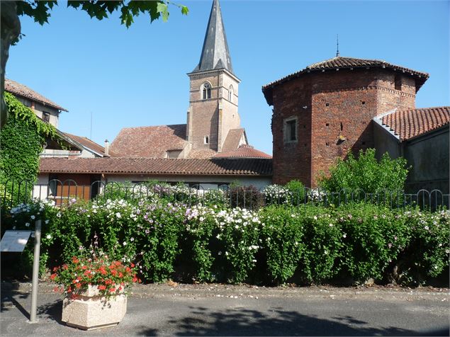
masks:
<svg viewBox="0 0 450 337"><path fill-rule="evenodd" d="M449 336L448 290L140 285L116 327L79 331L60 321L60 295L2 287L1 336Z"/></svg>

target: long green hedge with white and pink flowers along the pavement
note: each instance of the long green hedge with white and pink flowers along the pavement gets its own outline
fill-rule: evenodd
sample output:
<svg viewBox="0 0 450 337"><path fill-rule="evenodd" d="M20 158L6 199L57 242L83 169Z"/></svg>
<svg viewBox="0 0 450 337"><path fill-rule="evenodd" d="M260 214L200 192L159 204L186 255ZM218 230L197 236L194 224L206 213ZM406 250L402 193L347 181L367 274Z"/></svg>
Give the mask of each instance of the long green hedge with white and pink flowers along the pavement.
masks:
<svg viewBox="0 0 450 337"><path fill-rule="evenodd" d="M135 263L145 282L320 284L369 278L418 285L449 265L450 212L272 205L258 211L167 200L48 202L2 212L2 230L43 218L43 268L89 252ZM32 256L31 245L24 256ZM28 255L27 255L28 254Z"/></svg>

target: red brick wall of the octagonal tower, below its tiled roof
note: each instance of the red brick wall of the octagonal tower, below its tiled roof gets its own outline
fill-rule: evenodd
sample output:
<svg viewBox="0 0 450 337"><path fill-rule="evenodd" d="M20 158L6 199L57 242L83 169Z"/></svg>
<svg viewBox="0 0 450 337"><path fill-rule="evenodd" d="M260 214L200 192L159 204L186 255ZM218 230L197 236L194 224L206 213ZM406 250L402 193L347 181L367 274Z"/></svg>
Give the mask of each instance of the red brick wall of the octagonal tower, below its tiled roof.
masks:
<svg viewBox="0 0 450 337"><path fill-rule="evenodd" d="M338 158L374 147L373 117L415 108L415 80L386 69L312 72L275 86L273 102L273 181L315 187ZM291 116L298 118L296 143L283 138L283 120Z"/></svg>

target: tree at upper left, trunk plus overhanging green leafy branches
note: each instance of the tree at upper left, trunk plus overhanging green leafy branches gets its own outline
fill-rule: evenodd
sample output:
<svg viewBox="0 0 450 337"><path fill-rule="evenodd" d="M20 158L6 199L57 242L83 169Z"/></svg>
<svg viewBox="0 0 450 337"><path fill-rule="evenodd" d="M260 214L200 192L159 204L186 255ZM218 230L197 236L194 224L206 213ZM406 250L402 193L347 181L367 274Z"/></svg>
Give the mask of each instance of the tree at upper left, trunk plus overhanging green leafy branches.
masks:
<svg viewBox="0 0 450 337"><path fill-rule="evenodd" d="M109 15L120 11L120 20L127 28L133 23L135 16L148 14L150 22L162 17L165 22L169 18L168 5L172 4L181 8L181 13L187 15L189 9L186 6L174 4L169 0L157 1L67 1L67 7L81 9L98 20L108 18ZM4 101L4 84L6 62L9 57L9 47L21 38L21 21L19 16L30 16L35 22L43 25L48 23L50 13L57 1L1 1L1 115L0 122L3 127L8 120L8 107Z"/></svg>

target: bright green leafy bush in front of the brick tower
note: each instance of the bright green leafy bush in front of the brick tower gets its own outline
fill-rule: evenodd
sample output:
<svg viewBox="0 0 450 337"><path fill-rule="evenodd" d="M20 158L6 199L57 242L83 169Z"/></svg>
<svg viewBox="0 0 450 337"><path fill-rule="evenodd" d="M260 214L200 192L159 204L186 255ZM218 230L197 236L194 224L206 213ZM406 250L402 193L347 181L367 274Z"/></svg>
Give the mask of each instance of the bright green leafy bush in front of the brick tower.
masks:
<svg viewBox="0 0 450 337"><path fill-rule="evenodd" d="M345 161L338 159L330 168L329 177L320 177L319 185L329 192L343 189L365 193L403 191L408 172L406 164L406 159L390 159L387 153L377 161L375 149L361 150L357 159L350 152Z"/></svg>

